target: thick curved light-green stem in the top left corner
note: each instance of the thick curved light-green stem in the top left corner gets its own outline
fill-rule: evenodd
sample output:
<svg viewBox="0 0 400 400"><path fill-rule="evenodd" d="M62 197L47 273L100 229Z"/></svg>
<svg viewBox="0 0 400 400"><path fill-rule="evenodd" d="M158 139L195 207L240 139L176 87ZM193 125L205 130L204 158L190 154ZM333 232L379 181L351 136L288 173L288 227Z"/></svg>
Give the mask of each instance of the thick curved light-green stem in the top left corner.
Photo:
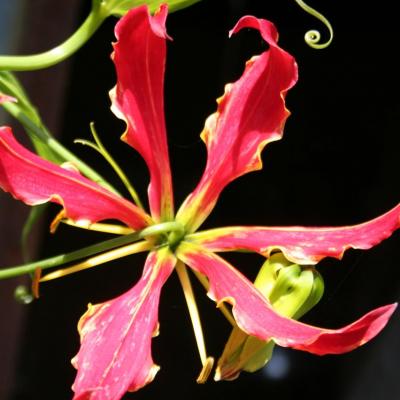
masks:
<svg viewBox="0 0 400 400"><path fill-rule="evenodd" d="M75 53L108 17L102 7L94 7L89 16L64 43L43 53L27 56L0 56L0 70L34 71L55 65Z"/></svg>

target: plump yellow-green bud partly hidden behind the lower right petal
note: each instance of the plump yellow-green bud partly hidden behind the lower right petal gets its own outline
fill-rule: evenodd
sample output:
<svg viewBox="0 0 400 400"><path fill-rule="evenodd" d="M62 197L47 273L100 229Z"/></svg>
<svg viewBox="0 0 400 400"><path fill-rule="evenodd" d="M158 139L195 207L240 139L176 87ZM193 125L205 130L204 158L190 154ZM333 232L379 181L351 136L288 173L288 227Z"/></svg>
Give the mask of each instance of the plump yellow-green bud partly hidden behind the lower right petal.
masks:
<svg viewBox="0 0 400 400"><path fill-rule="evenodd" d="M279 314L298 319L321 299L324 283L312 267L301 267L283 254L272 255L261 267L254 285ZM275 343L249 336L235 327L218 360L216 380L235 379L242 370L255 372L272 357Z"/></svg>

